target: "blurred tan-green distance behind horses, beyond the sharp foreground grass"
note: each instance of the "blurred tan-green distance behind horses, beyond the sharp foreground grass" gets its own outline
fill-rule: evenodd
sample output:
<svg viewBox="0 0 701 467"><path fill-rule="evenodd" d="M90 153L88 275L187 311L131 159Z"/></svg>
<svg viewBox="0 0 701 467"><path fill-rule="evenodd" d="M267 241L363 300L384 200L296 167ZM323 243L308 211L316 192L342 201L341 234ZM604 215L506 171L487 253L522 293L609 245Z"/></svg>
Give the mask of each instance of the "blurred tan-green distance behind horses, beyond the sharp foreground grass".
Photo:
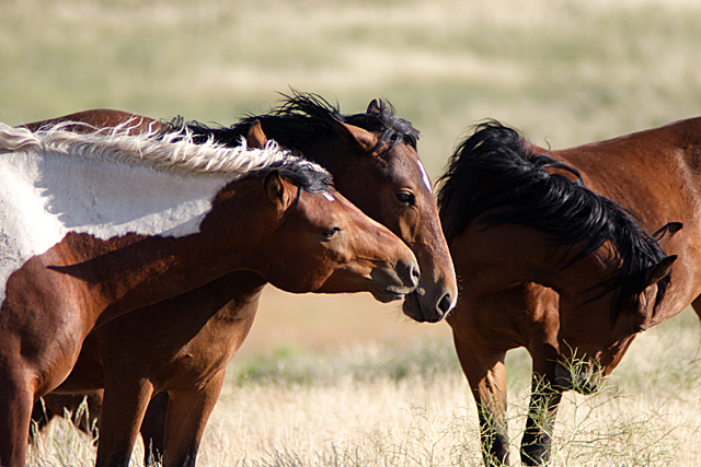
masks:
<svg viewBox="0 0 701 467"><path fill-rule="evenodd" d="M3 0L0 121L110 107L232 124L314 92L388 98L436 179L496 118L563 148L701 114L696 0ZM240 358L449 339L369 295L265 292Z"/></svg>

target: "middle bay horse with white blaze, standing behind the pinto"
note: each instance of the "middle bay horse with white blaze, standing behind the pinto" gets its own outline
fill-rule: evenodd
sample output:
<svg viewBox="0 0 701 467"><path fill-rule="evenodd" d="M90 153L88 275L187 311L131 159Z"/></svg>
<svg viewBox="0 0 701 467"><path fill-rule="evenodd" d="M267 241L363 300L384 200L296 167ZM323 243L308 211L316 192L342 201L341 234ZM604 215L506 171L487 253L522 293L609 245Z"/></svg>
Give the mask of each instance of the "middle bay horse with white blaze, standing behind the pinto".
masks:
<svg viewBox="0 0 701 467"><path fill-rule="evenodd" d="M133 121L130 127L137 132L150 125L159 125L161 129L183 125L183 121L157 121L118 110L87 110L48 122L67 119L100 127ZM46 121L31 126L41 127L45 124ZM438 222L430 182L416 155L417 131L410 122L394 116L391 104L372 101L365 114L344 116L337 107L319 96L296 94L268 114L250 116L231 127L210 128L198 122L186 126L200 141L214 138L226 144L246 138L250 144L260 145L264 144L265 135L268 135L280 144L301 150L307 157L321 162L332 172L341 192L364 212L389 226L418 258L421 290L405 300L405 314L417 320L436 320L453 306L457 296L455 272ZM333 156L326 156L326 152ZM103 465L103 459L118 458L124 462L129 458L141 417L145 417L141 423L145 445L151 446L157 457L165 452L164 465L194 464L209 412L193 410L192 402L181 402L182 397L170 397L175 394L175 388L161 375L179 375L177 389L185 386L186 378L192 382L188 383L191 387L202 386L205 377L197 374L183 355L196 355L198 361L206 361L206 364L200 364L202 367L216 369L221 374L219 380L211 381L211 385L216 385L210 396L214 406L221 388L226 364L243 342L253 323L263 285L263 282L245 277L232 279L231 282L240 284L237 293L232 293L233 285L212 284L199 295L179 297L151 307L148 315L140 311L138 315L129 314L113 320L87 339L73 373L60 390L87 390L110 384L113 389L106 389L107 394L127 390L127 381L148 380L154 386L154 393L162 392L151 400L146 415L143 410L151 393L139 397L130 411L124 409L128 395L119 398L120 404L115 412L124 418L119 425L130 427L129 430L112 428L115 423L110 421L110 409L106 409L100 422L101 439L105 436L105 431L120 432L122 441L113 443L114 446L110 448L106 443L101 444L103 451L99 447L97 465ZM159 307L163 310L158 310ZM200 318L196 324L193 324L195 314L192 310L197 310ZM181 313L183 318L174 319L173 313ZM148 316L148 319L145 320L143 316ZM233 323L225 319L228 316L246 316L246 320ZM163 330L158 339L153 339L152 329ZM142 332L142 338L135 337L125 345L125 336L134 335L135 330ZM100 345L93 343L94 341L100 341ZM212 341L220 343L214 345ZM188 342L189 350L183 350L185 342ZM195 347L196 352L192 351ZM103 350L100 352L96 349ZM94 360L100 363L81 363ZM104 377L108 373L107 361L114 362L111 365L119 365L119 372L112 377L112 383L107 383L110 378ZM134 376L126 377L126 374ZM105 407L107 402L105 401ZM179 408L179 405L183 408ZM168 422L164 415L166 406ZM177 435L172 434L174 430L179 430ZM164 436L163 431L171 434ZM113 435L105 437L112 439ZM164 437L168 440L166 446L163 445ZM148 450L146 457L145 463L148 463L151 457Z"/></svg>

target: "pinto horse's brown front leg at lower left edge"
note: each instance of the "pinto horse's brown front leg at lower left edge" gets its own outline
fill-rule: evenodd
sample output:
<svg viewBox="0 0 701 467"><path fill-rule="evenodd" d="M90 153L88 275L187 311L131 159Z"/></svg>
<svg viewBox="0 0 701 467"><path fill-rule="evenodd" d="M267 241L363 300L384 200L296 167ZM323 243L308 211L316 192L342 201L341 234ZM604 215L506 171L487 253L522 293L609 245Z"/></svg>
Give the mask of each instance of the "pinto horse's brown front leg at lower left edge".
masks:
<svg viewBox="0 0 701 467"><path fill-rule="evenodd" d="M24 374L13 371L1 374L0 467L23 467L26 463L34 385Z"/></svg>

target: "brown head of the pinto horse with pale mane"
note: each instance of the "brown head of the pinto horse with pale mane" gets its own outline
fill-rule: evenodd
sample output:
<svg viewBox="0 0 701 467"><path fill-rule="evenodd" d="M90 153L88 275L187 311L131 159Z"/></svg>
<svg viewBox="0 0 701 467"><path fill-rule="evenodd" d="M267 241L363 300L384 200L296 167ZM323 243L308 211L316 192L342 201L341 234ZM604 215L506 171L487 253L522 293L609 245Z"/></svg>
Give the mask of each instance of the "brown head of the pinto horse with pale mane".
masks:
<svg viewBox="0 0 701 467"><path fill-rule="evenodd" d="M283 165L225 189L208 222L237 219L243 227L228 236L245 245L248 269L285 291L403 299L418 282L413 253L330 184L329 174L307 161Z"/></svg>

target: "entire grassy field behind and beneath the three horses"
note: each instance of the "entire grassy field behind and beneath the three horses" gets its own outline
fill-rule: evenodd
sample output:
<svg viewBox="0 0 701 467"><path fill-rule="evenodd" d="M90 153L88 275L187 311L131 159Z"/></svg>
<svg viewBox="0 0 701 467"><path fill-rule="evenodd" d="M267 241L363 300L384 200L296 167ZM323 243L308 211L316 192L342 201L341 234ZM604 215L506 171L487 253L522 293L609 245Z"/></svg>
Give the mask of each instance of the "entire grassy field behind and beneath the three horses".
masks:
<svg viewBox="0 0 701 467"><path fill-rule="evenodd" d="M0 10L0 121L11 125L94 107L225 124L290 86L345 113L381 96L422 131L435 178L487 117L562 148L701 113L692 0L5 0ZM480 464L445 324L409 323L369 296L274 290L258 316L200 466ZM642 336L609 389L568 396L555 465L698 466L698 343L686 314ZM509 359L517 443L530 363ZM290 367L302 374L273 371ZM32 465L93 456L57 425Z"/></svg>

